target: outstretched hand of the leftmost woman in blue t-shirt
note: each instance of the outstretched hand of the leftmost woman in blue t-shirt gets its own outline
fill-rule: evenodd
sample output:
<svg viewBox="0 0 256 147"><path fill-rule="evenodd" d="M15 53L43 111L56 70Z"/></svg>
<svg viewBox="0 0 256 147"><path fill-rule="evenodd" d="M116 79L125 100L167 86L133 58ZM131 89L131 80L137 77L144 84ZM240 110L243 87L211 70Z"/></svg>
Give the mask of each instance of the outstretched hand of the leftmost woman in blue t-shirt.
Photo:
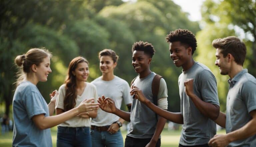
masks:
<svg viewBox="0 0 256 147"><path fill-rule="evenodd" d="M94 103L94 98L83 100L78 106L78 112L88 112L97 110L99 108L99 103Z"/></svg>

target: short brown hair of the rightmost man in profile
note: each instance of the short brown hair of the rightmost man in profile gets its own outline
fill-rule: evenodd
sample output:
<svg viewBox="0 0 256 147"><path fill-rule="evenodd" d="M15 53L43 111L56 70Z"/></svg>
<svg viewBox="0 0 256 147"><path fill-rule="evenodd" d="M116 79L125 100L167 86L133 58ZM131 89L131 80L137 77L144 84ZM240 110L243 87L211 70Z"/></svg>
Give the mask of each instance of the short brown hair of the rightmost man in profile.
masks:
<svg viewBox="0 0 256 147"><path fill-rule="evenodd" d="M235 62L238 65L243 66L246 56L246 46L239 38L229 36L226 38L215 39L212 41L212 46L216 49L220 49L220 53L223 54L223 57L231 54L234 57Z"/></svg>

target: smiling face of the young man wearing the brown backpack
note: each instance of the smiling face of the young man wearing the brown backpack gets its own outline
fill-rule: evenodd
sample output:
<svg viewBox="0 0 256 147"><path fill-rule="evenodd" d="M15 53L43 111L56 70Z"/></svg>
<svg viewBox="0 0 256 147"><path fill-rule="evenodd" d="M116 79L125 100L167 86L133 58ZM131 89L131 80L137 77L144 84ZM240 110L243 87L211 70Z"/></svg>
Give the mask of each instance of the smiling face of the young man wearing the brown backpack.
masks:
<svg viewBox="0 0 256 147"><path fill-rule="evenodd" d="M151 58L149 55L144 54L144 51L134 51L132 54L132 66L136 73L142 74L149 70Z"/></svg>

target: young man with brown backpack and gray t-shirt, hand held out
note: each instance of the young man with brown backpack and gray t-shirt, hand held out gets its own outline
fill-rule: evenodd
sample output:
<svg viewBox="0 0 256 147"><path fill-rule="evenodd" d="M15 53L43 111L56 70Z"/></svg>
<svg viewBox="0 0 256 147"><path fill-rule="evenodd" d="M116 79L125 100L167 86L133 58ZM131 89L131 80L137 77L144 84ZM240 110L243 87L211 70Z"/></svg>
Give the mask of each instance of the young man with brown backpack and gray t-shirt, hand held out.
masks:
<svg viewBox="0 0 256 147"><path fill-rule="evenodd" d="M152 81L155 73L150 71L150 63L155 53L152 44L136 42L132 46L132 66L139 75L133 82L133 88L141 89L146 99L153 102ZM159 91L156 96L159 108L167 110L167 86L163 78L160 79ZM121 111L116 108L111 98L99 98L101 109L118 115L126 121L130 121L130 130L125 139L125 147L160 147L160 134L164 128L166 119L159 117L137 99L133 99L131 112Z"/></svg>

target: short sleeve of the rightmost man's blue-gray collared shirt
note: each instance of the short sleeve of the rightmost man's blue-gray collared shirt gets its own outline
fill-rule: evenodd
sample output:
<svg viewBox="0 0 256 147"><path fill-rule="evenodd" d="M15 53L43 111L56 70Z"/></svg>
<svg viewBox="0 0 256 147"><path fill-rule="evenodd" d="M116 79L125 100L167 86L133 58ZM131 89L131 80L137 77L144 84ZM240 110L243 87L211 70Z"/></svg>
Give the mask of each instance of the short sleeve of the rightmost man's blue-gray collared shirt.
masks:
<svg viewBox="0 0 256 147"><path fill-rule="evenodd" d="M242 86L241 96L245 101L248 112L256 109L256 83L252 81L244 82Z"/></svg>

